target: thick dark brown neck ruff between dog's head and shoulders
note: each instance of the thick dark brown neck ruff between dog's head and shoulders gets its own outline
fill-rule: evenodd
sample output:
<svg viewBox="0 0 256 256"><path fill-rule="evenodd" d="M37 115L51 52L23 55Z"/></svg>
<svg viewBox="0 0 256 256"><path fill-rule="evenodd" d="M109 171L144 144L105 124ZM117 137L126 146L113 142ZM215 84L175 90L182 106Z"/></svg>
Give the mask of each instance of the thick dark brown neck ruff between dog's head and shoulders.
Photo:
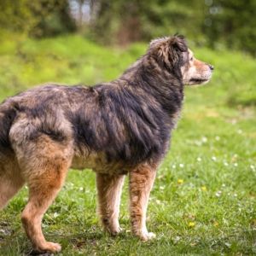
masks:
<svg viewBox="0 0 256 256"><path fill-rule="evenodd" d="M152 59L143 56L118 80L118 84L131 86L134 91L143 90L149 98L154 98L171 117L181 110L183 103L183 82L174 71L162 69ZM120 81L120 83L119 83ZM123 81L123 83L122 83Z"/></svg>

